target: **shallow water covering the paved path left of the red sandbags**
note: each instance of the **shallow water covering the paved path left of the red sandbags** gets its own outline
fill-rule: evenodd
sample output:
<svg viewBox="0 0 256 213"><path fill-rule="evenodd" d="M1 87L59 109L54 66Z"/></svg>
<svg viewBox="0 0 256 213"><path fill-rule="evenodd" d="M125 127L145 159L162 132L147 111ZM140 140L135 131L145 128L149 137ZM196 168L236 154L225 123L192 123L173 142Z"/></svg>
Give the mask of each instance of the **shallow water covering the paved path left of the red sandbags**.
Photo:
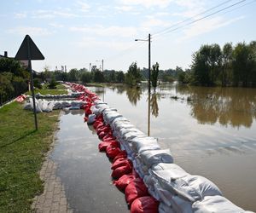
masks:
<svg viewBox="0 0 256 213"><path fill-rule="evenodd" d="M51 157L74 212L130 212L125 194L113 186L111 164L98 152L99 139L84 124L84 111L61 115Z"/></svg>

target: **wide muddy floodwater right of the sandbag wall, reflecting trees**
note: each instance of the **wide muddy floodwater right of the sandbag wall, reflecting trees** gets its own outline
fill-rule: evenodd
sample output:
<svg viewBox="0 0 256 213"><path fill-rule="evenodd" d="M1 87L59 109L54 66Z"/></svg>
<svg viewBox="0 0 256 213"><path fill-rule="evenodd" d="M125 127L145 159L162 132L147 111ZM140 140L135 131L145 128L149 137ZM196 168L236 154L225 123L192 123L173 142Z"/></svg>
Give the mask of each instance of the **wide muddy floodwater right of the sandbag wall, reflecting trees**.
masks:
<svg viewBox="0 0 256 213"><path fill-rule="evenodd" d="M147 88L90 89L148 133ZM162 84L150 95L150 107L150 135L171 149L176 164L256 211L256 89Z"/></svg>

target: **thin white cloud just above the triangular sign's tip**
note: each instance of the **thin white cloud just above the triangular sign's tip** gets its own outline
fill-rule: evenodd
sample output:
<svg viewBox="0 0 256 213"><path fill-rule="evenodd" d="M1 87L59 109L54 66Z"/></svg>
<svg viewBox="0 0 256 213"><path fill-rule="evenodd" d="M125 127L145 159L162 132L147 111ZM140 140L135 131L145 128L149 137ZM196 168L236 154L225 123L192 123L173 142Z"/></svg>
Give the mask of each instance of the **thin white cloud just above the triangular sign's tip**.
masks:
<svg viewBox="0 0 256 213"><path fill-rule="evenodd" d="M7 32L13 34L19 34L25 36L26 34L32 36L49 36L53 34L53 32L49 32L46 28L41 27L33 27L33 26L17 26L15 28L9 29Z"/></svg>

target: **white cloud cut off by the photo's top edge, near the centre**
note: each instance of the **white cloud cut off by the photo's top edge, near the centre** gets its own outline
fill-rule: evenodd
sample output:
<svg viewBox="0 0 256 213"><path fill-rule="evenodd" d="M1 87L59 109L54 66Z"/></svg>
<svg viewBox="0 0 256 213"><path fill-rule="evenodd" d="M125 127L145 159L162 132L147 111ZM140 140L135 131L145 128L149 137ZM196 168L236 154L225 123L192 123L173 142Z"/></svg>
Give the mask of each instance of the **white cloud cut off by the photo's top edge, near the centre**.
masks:
<svg viewBox="0 0 256 213"><path fill-rule="evenodd" d="M142 5L145 8L166 8L172 2L172 0L119 0L118 2L125 5Z"/></svg>

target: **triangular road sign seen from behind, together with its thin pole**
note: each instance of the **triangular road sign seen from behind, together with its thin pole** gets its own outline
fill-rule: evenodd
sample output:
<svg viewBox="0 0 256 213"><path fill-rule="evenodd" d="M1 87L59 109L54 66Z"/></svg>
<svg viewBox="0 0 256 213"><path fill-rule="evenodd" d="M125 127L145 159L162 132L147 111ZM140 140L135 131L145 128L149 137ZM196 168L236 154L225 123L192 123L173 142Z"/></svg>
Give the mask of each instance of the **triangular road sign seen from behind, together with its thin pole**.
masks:
<svg viewBox="0 0 256 213"><path fill-rule="evenodd" d="M33 112L35 118L35 127L38 130L38 119L36 112L36 101L35 101L35 93L34 93L34 83L33 83L33 75L32 75L32 63L31 60L44 60L44 55L40 52L37 45L32 41L32 38L29 35L26 35L23 42L20 45L20 49L18 50L15 60L28 60L28 69L30 72L30 83L32 90L32 100L33 100Z"/></svg>

